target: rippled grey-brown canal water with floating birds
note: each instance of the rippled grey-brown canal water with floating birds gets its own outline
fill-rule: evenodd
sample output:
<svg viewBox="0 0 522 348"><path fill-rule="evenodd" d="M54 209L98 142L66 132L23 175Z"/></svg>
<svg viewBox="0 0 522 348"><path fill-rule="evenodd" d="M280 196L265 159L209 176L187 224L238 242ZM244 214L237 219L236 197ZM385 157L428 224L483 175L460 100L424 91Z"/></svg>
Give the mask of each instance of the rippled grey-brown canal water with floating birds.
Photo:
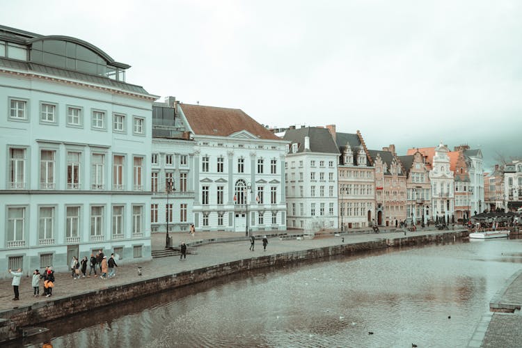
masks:
<svg viewBox="0 0 522 348"><path fill-rule="evenodd" d="M457 240L266 269L52 322L23 343L466 347L493 295L522 267L521 246Z"/></svg>

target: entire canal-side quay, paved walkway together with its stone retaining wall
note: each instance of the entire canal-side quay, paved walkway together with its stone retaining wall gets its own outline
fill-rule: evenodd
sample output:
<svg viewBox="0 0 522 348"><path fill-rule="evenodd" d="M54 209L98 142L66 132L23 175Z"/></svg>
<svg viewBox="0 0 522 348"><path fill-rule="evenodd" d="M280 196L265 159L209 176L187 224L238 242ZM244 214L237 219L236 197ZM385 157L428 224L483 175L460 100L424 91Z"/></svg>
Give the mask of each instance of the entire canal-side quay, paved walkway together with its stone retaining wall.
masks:
<svg viewBox="0 0 522 348"><path fill-rule="evenodd" d="M32 296L30 278L23 278L21 283L20 301L12 301L10 281L1 280L0 317L6 320L5 325L20 332L21 328L13 327L15 318L32 320L30 326L41 324L50 319L58 319L70 313L90 310L93 306L107 306L116 301L134 299L161 290L173 289L177 286L190 285L212 277L247 271L258 267L269 267L282 262L294 262L312 258L328 257L328 252L351 253L357 250L371 248L386 248L399 245L421 245L431 242L450 241L454 238L466 237L467 231L420 230L407 232L404 230L392 232L382 231L380 234L361 230L360 234L343 234L335 236L332 233L318 234L314 239L289 237L294 231L278 232L278 236L269 238L267 251L263 251L258 235L255 251L249 251L248 238L237 233L199 232L195 237L190 235L171 234L173 245L187 242L191 253L187 260L180 261L178 256L155 258L141 264L125 264L118 267L116 278L102 280L100 278L81 278L73 280L69 273L56 274L56 287L50 298ZM344 238L344 240L343 240ZM162 249L165 244L164 234L152 237L153 248ZM194 247L198 245L197 247ZM360 249L359 249L360 248ZM110 253L110 251L105 251ZM142 276L138 275L141 267ZM205 278L206 277L206 278ZM138 286L136 286L138 285ZM141 292L136 292L136 288ZM97 301L90 301L90 296ZM106 296L108 301L104 301ZM82 303L85 306L82 306ZM17 308L15 308L17 307ZM52 317L44 319L41 310L52 313ZM69 313L69 314L68 314ZM26 326L20 325L20 326ZM7 329L7 328L6 328ZM5 331L0 331L4 333ZM0 336L5 339L5 335ZM11 335L12 337L12 335Z"/></svg>

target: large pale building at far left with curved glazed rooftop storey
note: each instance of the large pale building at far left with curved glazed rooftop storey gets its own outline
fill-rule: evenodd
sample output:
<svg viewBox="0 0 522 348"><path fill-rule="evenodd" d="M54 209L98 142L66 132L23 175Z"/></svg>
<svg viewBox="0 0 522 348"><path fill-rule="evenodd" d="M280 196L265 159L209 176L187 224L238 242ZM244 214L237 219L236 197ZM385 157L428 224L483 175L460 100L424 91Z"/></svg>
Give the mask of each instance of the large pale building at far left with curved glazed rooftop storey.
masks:
<svg viewBox="0 0 522 348"><path fill-rule="evenodd" d="M0 268L63 271L98 249L149 260L157 97L87 42L1 29Z"/></svg>

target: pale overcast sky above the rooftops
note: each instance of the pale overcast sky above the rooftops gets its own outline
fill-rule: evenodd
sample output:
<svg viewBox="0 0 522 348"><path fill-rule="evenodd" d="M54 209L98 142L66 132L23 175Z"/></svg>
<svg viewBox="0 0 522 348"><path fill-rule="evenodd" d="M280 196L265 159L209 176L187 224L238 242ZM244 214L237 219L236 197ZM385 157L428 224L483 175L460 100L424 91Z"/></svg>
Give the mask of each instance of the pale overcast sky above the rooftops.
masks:
<svg viewBox="0 0 522 348"><path fill-rule="evenodd" d="M522 155L522 1L3 1L0 23L69 35L127 82L271 127L361 130L369 148Z"/></svg>

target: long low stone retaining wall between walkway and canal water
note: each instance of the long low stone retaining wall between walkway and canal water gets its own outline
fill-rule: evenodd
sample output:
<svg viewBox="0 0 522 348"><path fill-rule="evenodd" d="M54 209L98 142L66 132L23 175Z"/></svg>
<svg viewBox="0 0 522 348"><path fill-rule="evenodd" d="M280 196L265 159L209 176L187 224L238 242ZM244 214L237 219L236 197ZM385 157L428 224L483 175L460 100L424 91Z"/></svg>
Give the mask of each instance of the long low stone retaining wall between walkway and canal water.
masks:
<svg viewBox="0 0 522 348"><path fill-rule="evenodd" d="M3 310L0 312L0 318L7 319L7 322L4 322L3 326L0 325L0 342L12 339L13 334L18 336L22 335L21 328L24 326L35 326L50 320L92 310L93 308L109 306L117 302L137 299L140 296L172 290L176 287L182 287L216 277L228 276L237 272L280 266L304 260L327 258L333 255L350 255L352 253L388 247L451 242L457 238L467 237L468 234L468 231L454 231L441 232L436 235L409 235L395 239L381 239L373 242L355 244L340 244L303 251L266 255L216 264L214 266L194 269L193 271L183 271L169 276L144 279L125 285L115 285L94 292L84 292L74 296L38 302L32 306ZM96 301L84 301L86 296L94 296ZM13 333L13 330L16 332Z"/></svg>

